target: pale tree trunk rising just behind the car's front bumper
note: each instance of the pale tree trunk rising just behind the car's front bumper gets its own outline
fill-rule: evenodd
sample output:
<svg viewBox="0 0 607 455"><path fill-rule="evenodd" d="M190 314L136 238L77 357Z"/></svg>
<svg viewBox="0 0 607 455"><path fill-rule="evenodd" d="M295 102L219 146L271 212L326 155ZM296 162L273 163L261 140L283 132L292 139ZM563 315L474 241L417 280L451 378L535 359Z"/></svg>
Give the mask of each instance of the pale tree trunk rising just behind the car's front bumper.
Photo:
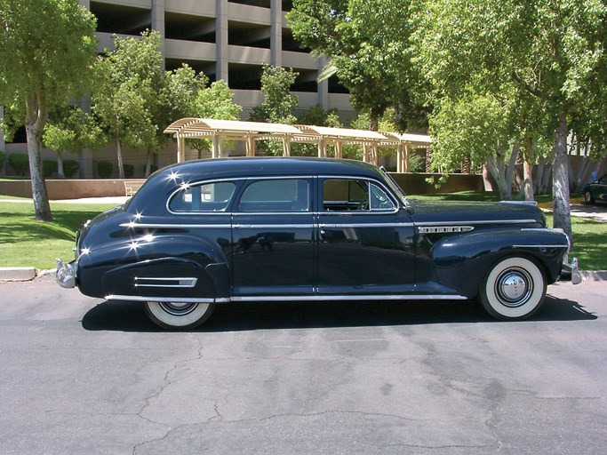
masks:
<svg viewBox="0 0 607 455"><path fill-rule="evenodd" d="M554 161L552 197L553 197L553 226L562 228L573 246L571 234L571 207L569 204L569 163L567 160L567 133L569 128L564 114L559 118L559 125L555 131L555 145L553 149Z"/></svg>

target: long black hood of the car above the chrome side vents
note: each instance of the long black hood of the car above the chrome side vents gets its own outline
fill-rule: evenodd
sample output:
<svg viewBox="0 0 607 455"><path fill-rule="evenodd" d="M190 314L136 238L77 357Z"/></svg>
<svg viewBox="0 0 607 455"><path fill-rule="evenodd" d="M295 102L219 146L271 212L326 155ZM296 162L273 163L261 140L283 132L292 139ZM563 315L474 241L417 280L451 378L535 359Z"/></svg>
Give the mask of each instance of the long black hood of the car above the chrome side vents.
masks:
<svg viewBox="0 0 607 455"><path fill-rule="evenodd" d="M410 200L411 218L416 224L461 222L537 222L544 227L546 219L535 204L514 202L427 202Z"/></svg>

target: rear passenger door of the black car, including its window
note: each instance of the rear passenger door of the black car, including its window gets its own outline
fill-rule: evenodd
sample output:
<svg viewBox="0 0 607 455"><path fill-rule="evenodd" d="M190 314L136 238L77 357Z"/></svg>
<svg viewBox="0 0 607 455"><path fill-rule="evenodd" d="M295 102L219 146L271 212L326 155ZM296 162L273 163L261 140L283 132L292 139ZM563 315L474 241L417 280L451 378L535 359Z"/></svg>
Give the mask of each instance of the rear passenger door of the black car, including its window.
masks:
<svg viewBox="0 0 607 455"><path fill-rule="evenodd" d="M313 181L306 177L247 180L232 215L234 299L314 293Z"/></svg>

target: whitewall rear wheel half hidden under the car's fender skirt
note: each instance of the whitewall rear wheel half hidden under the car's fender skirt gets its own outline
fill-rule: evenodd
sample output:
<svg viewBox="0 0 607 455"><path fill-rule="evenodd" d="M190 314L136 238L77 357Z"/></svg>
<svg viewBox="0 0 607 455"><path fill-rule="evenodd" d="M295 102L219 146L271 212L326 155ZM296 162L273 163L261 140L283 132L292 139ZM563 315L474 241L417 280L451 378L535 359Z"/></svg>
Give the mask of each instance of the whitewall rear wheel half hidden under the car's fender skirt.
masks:
<svg viewBox="0 0 607 455"><path fill-rule="evenodd" d="M146 311L163 329L189 330L204 323L215 309L214 303L146 302Z"/></svg>

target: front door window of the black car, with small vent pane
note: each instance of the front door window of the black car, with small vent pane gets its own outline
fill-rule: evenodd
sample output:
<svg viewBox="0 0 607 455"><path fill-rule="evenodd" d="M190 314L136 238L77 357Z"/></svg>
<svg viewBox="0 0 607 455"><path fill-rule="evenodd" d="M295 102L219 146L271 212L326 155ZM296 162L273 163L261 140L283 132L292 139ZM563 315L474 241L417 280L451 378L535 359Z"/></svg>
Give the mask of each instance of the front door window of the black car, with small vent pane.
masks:
<svg viewBox="0 0 607 455"><path fill-rule="evenodd" d="M394 208L384 189L368 180L329 179L323 182L325 211L386 211Z"/></svg>

